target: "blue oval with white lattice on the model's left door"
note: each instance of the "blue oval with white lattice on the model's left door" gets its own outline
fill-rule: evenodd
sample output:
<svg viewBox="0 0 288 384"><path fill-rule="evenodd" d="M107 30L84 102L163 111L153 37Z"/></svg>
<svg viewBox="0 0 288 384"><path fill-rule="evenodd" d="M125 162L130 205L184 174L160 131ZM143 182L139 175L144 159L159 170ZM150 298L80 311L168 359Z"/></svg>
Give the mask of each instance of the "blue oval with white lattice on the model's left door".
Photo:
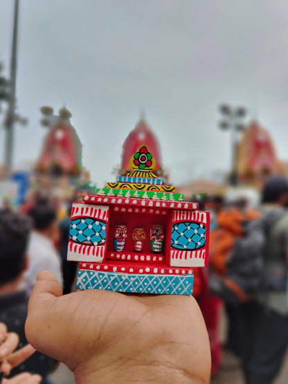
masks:
<svg viewBox="0 0 288 384"><path fill-rule="evenodd" d="M78 244L102 246L106 241L106 223L91 217L72 219L69 238Z"/></svg>

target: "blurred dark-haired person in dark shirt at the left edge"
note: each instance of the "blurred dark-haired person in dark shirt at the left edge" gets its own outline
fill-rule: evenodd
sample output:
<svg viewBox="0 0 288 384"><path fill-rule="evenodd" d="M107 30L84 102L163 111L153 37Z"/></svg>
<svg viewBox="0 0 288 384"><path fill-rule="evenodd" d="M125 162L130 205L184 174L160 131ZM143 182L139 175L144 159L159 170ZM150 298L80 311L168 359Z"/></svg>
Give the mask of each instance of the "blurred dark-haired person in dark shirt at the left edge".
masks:
<svg viewBox="0 0 288 384"><path fill-rule="evenodd" d="M28 217L12 211L0 210L0 322L6 324L5 326L1 324L0 327L0 360L6 359L1 361L0 370L6 374L19 363L23 353L28 357L30 352L35 351L34 349L31 350L30 346L24 347L27 343L24 325L28 309L28 296L25 291L21 290L21 280L28 267L26 248L30 227L31 223ZM7 333L6 327L10 333ZM24 347L24 349L19 349L8 358L18 342L19 347ZM44 378L43 383L47 383L46 376L51 372L54 365L55 361L52 358L35 352L33 356L12 370L12 376L23 372L39 374ZM19 377L23 378L23 376ZM24 375L25 377L29 378L29 375ZM13 381L17 383L16 378L13 378Z"/></svg>

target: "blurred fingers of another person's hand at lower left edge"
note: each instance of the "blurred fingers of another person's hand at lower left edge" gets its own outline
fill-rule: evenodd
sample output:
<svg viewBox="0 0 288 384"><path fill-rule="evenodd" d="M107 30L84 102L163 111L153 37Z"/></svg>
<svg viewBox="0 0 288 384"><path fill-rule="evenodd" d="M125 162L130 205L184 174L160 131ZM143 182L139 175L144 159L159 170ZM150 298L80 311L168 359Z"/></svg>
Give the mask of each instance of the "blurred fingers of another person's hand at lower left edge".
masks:
<svg viewBox="0 0 288 384"><path fill-rule="evenodd" d="M27 344L12 353L15 351L18 344L19 336L17 333L8 332L6 324L0 322L0 372L3 372L6 376L10 374L12 368L23 363L23 361L34 354L36 350L31 345Z"/></svg>

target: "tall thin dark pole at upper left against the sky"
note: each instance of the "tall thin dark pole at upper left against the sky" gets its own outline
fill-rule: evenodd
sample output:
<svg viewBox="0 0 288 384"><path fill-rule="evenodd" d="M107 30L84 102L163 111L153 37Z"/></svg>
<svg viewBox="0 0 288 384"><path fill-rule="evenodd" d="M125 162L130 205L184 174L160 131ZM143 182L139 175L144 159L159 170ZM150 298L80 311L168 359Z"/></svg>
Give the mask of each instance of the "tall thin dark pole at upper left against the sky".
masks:
<svg viewBox="0 0 288 384"><path fill-rule="evenodd" d="M6 118L6 145L5 145L5 172L6 179L10 177L12 170L12 149L14 140L14 122L15 122L15 90L17 73L17 35L18 35L18 11L19 0L14 3L14 23L12 51L10 61L10 97L8 101L8 111Z"/></svg>

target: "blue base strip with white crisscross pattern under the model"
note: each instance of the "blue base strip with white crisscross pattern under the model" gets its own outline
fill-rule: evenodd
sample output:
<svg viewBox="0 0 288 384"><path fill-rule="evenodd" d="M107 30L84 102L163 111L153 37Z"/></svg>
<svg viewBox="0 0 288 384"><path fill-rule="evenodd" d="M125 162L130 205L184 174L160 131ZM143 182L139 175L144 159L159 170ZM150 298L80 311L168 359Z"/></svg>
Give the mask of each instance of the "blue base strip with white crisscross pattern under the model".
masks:
<svg viewBox="0 0 288 384"><path fill-rule="evenodd" d="M157 295L192 295L193 275L134 275L103 271L79 270L77 289L101 289Z"/></svg>

